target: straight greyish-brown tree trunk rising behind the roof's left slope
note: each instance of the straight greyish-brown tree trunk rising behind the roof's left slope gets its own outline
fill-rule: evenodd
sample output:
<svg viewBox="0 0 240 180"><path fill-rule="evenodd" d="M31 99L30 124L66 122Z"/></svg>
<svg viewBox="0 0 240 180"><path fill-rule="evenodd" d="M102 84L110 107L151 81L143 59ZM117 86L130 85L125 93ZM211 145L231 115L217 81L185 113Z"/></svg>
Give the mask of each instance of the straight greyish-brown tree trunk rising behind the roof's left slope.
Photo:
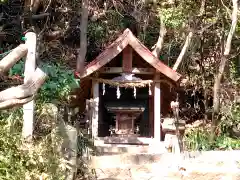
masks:
<svg viewBox="0 0 240 180"><path fill-rule="evenodd" d="M77 72L83 73L87 53L88 0L82 0L80 48L77 56Z"/></svg>

